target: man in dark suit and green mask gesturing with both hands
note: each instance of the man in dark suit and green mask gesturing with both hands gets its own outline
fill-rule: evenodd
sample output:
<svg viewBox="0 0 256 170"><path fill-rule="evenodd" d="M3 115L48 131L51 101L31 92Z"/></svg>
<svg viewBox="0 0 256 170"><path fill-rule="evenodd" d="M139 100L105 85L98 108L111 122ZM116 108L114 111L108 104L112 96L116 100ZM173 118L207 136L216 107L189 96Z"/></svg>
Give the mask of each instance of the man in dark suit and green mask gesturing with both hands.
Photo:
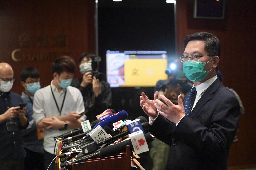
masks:
<svg viewBox="0 0 256 170"><path fill-rule="evenodd" d="M190 93L178 96L178 105L164 95L148 99L144 92L140 106L150 116L151 132L171 145L166 169L227 169L230 145L240 118L239 103L217 78L220 42L211 33L198 32L184 40L185 76L193 81Z"/></svg>

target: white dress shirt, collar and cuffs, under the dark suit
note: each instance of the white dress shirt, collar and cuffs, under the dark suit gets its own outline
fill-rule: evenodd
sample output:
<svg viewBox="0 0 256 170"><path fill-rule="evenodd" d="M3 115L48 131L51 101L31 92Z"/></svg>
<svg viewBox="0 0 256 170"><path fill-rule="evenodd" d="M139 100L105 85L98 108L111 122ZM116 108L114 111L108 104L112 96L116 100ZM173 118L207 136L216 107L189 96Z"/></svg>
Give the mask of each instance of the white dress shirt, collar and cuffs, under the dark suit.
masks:
<svg viewBox="0 0 256 170"><path fill-rule="evenodd" d="M192 107L192 109L191 109L191 111L193 110L193 108L196 106L196 103L199 101L199 99L203 96L203 94L204 94L204 92L206 91L206 89L208 88L208 87L210 87L210 85L212 85L212 83L215 81L217 79L217 75L216 76L214 76L214 77L212 77L212 78L210 78L210 79L208 79L208 80L206 80L206 81L204 81L203 83L201 83L201 84L199 84L199 85L197 85L196 86L196 92L197 92L197 94L196 94L196 98L195 98L195 101L194 101L194 104L193 104L193 107ZM193 85L193 87L195 87L194 85ZM193 88L192 87L192 88ZM183 104L185 104L185 103L183 103ZM191 113L191 112L190 112ZM158 113L158 115L159 115L159 113ZM158 115L157 115L157 117L158 117ZM156 117L156 118L157 118ZM183 116L184 117L184 116ZM182 117L182 118L183 118ZM182 119L181 118L181 119ZM180 119L180 120L181 120ZM149 117L149 124L150 125L152 125L154 122L155 122L155 120L156 119L154 119L154 120L151 120L151 117ZM180 122L180 120L179 120L179 122ZM178 123L179 123L178 122ZM178 125L178 123L176 124L176 126Z"/></svg>

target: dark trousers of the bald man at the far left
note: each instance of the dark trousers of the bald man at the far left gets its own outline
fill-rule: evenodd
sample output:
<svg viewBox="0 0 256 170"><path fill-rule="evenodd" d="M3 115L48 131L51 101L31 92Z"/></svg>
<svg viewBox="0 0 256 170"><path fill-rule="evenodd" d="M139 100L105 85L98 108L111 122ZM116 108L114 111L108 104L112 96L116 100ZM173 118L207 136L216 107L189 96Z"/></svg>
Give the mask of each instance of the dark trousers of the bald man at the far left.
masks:
<svg viewBox="0 0 256 170"><path fill-rule="evenodd" d="M24 170L24 158L0 160L0 170Z"/></svg>

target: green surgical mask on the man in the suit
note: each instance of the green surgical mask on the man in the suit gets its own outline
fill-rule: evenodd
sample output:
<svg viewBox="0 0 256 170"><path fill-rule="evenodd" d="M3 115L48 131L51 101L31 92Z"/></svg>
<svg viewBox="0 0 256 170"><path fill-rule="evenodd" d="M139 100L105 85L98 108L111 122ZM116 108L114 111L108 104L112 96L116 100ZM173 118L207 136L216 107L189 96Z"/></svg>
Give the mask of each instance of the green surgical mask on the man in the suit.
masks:
<svg viewBox="0 0 256 170"><path fill-rule="evenodd" d="M212 59L213 57L209 61L211 61ZM183 62L183 72L190 81L193 81L193 82L202 81L208 75L208 73L212 70L211 69L208 72L204 70L206 63L202 61L195 61L195 60L185 61Z"/></svg>

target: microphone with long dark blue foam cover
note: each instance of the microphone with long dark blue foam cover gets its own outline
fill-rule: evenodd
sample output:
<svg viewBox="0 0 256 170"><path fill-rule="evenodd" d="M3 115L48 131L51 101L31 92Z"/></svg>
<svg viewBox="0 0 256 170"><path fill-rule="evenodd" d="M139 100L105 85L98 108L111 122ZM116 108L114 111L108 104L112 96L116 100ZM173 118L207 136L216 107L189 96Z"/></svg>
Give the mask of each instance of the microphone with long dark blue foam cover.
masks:
<svg viewBox="0 0 256 170"><path fill-rule="evenodd" d="M98 125L101 127L108 126L109 128L114 128L113 123L118 122L120 120L124 120L128 117L128 113L125 110L121 110L120 112L115 113L114 115L104 119L100 123L96 124L93 129L95 129Z"/></svg>

